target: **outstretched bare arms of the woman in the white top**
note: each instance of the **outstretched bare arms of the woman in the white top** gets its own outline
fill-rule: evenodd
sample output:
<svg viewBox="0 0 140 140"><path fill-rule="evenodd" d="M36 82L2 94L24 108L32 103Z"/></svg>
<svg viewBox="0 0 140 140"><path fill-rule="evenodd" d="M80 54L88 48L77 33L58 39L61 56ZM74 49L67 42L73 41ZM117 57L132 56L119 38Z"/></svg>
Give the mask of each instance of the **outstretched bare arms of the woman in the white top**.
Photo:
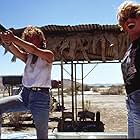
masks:
<svg viewBox="0 0 140 140"><path fill-rule="evenodd" d="M33 43L27 42L17 36L15 36L11 31L7 31L2 34L4 42L10 45L10 50L21 59L22 55L27 55L27 53L34 54L40 58L45 59L47 62L52 63L54 59L54 54L50 50L40 49L38 46ZM18 47L25 50L25 52L18 49ZM14 47L14 48L12 48ZM23 57L23 56L22 56ZM23 58L22 58L23 59Z"/></svg>

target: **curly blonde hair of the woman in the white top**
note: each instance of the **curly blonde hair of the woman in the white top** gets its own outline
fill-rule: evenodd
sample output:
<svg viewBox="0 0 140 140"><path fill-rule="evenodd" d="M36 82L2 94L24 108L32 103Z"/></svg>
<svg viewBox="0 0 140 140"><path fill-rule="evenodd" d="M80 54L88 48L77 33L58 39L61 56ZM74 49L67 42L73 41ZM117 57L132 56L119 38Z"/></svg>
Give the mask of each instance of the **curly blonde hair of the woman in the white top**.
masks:
<svg viewBox="0 0 140 140"><path fill-rule="evenodd" d="M46 48L44 33L38 27L29 25L28 27L25 28L21 38L27 41L28 38L31 38L33 35L36 35L40 40L42 40L41 48Z"/></svg>

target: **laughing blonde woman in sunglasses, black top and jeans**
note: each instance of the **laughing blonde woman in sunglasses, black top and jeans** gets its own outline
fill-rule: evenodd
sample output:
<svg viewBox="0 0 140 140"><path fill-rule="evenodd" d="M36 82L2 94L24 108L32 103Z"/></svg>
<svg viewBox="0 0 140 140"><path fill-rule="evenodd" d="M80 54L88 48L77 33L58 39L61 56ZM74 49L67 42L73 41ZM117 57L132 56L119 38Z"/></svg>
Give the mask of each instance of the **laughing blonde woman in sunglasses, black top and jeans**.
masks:
<svg viewBox="0 0 140 140"><path fill-rule="evenodd" d="M140 138L140 4L124 1L118 7L118 25L130 38L122 60L128 110L128 138Z"/></svg>

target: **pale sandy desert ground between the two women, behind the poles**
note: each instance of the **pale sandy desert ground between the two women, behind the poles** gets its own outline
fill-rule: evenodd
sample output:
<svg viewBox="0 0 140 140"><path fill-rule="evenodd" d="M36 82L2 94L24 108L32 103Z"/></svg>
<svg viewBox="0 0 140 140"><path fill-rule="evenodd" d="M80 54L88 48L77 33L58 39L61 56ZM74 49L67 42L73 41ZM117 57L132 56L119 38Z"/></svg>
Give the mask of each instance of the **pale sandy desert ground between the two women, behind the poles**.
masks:
<svg viewBox="0 0 140 140"><path fill-rule="evenodd" d="M57 97L56 97L57 98ZM75 97L74 97L75 100ZM105 132L127 132L127 110L125 95L100 95L92 91L84 92L84 108L91 112L100 112L101 121L104 123ZM75 102L74 102L75 103ZM66 111L71 111L72 97L64 97ZM82 96L77 96L77 109L82 108ZM61 116L60 112L53 112L51 117ZM50 122L49 127L56 127L57 124Z"/></svg>

